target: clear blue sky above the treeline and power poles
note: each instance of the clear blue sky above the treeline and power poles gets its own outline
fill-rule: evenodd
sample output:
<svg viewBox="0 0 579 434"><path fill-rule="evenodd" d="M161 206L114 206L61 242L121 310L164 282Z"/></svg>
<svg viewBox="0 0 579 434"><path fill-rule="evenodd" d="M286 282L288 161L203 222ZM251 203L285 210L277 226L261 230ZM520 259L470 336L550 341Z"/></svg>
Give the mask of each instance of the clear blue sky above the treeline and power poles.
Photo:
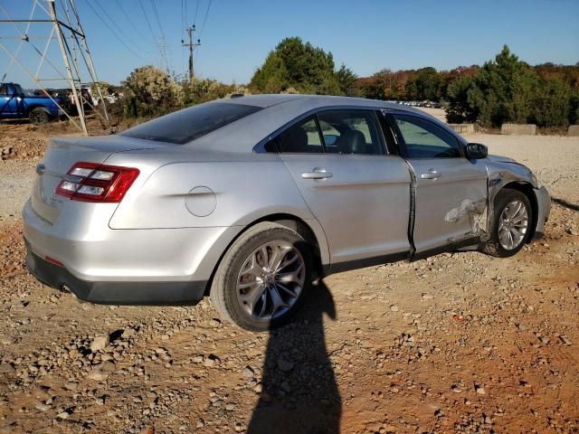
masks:
<svg viewBox="0 0 579 434"><path fill-rule="evenodd" d="M56 0L62 7L64 0ZM67 0L68 1L68 0ZM246 83L277 43L299 36L332 52L358 76L384 68L449 70L489 61L508 44L531 64L579 62L579 0L74 0L100 80L119 84L139 66L187 71L181 46L195 24L195 75ZM46 5L45 0L38 0ZM153 7L155 2L158 14ZM26 19L33 0L0 0L0 19ZM186 15L185 15L186 9ZM96 11L96 12L95 12ZM37 8L36 18L42 12ZM160 25L159 25L160 24ZM14 53L26 24L0 24L0 43ZM30 41L42 52L49 24L33 24ZM37 38L37 39L34 39ZM166 62L160 52L165 41ZM33 80L0 47L0 80ZM24 43L18 59L33 75L40 57ZM62 68L54 41L39 75Z"/></svg>

